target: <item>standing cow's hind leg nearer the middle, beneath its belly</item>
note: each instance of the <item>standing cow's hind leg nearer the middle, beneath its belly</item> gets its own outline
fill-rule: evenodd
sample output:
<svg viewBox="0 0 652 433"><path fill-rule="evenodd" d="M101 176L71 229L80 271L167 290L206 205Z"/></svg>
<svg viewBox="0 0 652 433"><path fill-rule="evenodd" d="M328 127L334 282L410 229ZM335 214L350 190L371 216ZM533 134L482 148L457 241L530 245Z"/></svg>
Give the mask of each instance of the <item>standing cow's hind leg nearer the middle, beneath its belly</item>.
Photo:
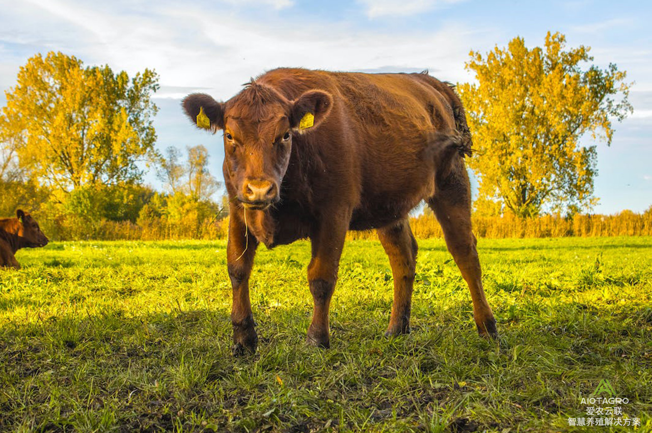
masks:
<svg viewBox="0 0 652 433"><path fill-rule="evenodd" d="M380 243L389 257L394 278L392 315L385 335L407 334L417 263L417 241L412 235L407 219L379 228L377 231Z"/></svg>

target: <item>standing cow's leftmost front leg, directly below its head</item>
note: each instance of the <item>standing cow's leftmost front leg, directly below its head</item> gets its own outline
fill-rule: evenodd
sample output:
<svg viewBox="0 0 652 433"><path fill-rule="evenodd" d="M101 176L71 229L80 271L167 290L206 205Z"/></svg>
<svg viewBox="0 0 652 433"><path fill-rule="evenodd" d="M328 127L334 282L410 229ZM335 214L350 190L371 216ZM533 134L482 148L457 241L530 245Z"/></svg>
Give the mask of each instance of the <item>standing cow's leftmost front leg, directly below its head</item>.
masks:
<svg viewBox="0 0 652 433"><path fill-rule="evenodd" d="M249 300L249 276L254 265L258 241L246 230L239 215L242 212L242 209L231 209L229 241L226 247L227 267L233 288L231 323L233 355L236 356L247 352L254 353L258 345L258 335L254 328L254 316Z"/></svg>

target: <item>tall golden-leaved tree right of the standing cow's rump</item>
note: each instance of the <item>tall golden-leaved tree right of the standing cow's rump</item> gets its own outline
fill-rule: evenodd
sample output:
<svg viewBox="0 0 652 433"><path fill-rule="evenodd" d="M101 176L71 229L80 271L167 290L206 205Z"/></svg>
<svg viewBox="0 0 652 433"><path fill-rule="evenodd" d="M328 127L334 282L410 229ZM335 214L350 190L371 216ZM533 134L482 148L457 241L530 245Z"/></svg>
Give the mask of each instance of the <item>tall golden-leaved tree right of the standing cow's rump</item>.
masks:
<svg viewBox="0 0 652 433"><path fill-rule="evenodd" d="M478 211L507 208L529 217L597 202L596 147L580 139L590 132L594 142L611 144L612 119L632 112L629 84L613 63L583 69L593 61L589 47L564 48L564 35L548 32L544 48L530 50L517 37L486 57L470 53L466 68L477 83L458 91L473 132L469 166L479 178Z"/></svg>

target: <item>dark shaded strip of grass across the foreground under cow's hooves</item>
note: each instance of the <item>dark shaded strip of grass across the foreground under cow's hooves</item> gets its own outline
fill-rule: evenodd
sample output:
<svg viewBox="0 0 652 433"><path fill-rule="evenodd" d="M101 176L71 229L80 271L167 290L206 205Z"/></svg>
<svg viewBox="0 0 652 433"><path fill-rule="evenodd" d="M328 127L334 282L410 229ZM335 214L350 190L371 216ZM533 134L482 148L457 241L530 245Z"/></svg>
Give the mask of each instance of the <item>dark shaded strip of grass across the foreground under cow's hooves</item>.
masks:
<svg viewBox="0 0 652 433"><path fill-rule="evenodd" d="M496 310L497 343L477 336L470 305L434 313L385 338L384 309L339 312L333 348L318 350L304 344L309 311L265 308L259 350L242 358L222 310L3 323L0 430L502 431L561 423L596 378L649 413L649 306L524 303Z"/></svg>

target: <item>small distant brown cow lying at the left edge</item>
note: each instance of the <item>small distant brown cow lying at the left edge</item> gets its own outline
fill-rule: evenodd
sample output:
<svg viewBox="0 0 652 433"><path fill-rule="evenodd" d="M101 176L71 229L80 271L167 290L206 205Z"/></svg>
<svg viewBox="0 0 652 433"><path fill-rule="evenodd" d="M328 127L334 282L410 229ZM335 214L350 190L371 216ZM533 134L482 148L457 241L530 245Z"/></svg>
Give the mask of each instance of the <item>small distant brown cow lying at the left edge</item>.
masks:
<svg viewBox="0 0 652 433"><path fill-rule="evenodd" d="M16 251L48 245L48 238L40 231L38 222L21 209L16 218L0 218L0 267L20 269Z"/></svg>

